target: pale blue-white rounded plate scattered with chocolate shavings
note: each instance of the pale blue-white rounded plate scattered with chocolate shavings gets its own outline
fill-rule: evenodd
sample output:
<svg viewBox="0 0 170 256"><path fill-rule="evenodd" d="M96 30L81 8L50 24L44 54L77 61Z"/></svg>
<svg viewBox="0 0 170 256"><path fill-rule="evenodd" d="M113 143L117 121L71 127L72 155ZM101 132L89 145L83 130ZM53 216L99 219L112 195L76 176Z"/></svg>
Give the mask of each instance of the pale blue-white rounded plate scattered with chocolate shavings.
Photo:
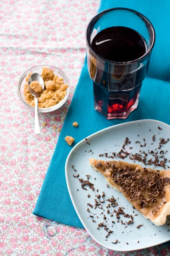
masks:
<svg viewBox="0 0 170 256"><path fill-rule="evenodd" d="M158 126L162 128L162 130L159 130ZM153 135L156 135L155 142L152 141ZM105 157L99 157L99 154L107 152L108 155L110 155L109 153L111 152L119 152L126 137L128 137L131 141L131 143L127 146L127 151L133 153L137 153L139 150L154 151L159 145L160 137L164 137L165 139L170 137L170 126L156 120L139 120L106 128L88 137L88 142L90 145L88 145L86 140L82 140L75 145L68 155L65 164L65 176L68 191L83 226L96 242L108 249L116 251L139 250L170 240L170 231L167 231L170 229L170 226L168 225L170 223L170 216L168 216L167 222L163 226L158 227L154 225L150 220L145 219L143 215L141 215L136 209L133 209L132 205L123 197L121 193L117 192L111 187L108 188L106 186L107 183L105 178L100 173L95 172L94 169L89 165L90 157L107 160ZM141 148L139 143L135 142L139 140L141 144L144 144L143 138L145 138L147 145ZM151 143L153 143L153 145L151 145ZM130 150L129 147L133 147L133 149ZM164 151L168 150L166 158L170 160L170 142L162 146L161 149ZM111 160L111 158L108 160ZM115 160L120 160L120 158ZM125 158L125 161L133 163L133 161L128 157ZM168 164L170 163L167 163L167 166ZM75 165L74 168L77 169L77 172L74 172L71 167L72 165ZM154 166L150 166L150 168L153 167ZM159 167L159 169L161 169L161 167ZM82 189L82 183L79 182L79 178L73 176L73 174L76 175L77 173L79 174L79 178L83 178L84 180L87 180L86 175L91 175L89 181L94 183L95 191L92 191L89 189L89 187L87 187L88 191ZM94 177L96 177L96 180L94 180ZM99 189L99 192L96 192L96 189ZM90 203L94 206L94 198L96 198L95 195L102 195L102 191L105 192L105 199L111 198L112 195L116 199L119 198L117 199L119 207L125 207L125 213L128 213L129 215L131 214L134 217L133 224L128 226L121 224L120 222L117 223L116 215L113 214L113 217L111 217L110 214L107 213L106 206L108 205L108 202L105 200L105 203L102 203L102 205L103 209L105 209L104 214L108 221L106 224L109 227L109 230L114 231L110 236L108 236L107 241L105 238L107 232L104 230L104 228L102 227L100 230L96 229L98 224L104 221L103 215L101 214L102 210L98 208L94 209L94 207L91 209L91 207L87 205L87 203ZM88 194L91 195L90 198L88 198ZM87 211L87 208L90 209L90 212ZM113 212L113 209L114 208L110 208L110 212L111 210ZM138 214L138 216L135 216L135 214ZM89 215L94 215L94 218L89 217ZM92 222L92 219L94 219L96 222ZM120 221L121 219L123 222L129 220L123 215L120 215ZM112 221L115 221L113 227ZM143 226L137 229L136 226L139 224L143 224ZM118 239L120 243L118 242L117 244L112 244L112 242L116 241L116 239Z"/></svg>

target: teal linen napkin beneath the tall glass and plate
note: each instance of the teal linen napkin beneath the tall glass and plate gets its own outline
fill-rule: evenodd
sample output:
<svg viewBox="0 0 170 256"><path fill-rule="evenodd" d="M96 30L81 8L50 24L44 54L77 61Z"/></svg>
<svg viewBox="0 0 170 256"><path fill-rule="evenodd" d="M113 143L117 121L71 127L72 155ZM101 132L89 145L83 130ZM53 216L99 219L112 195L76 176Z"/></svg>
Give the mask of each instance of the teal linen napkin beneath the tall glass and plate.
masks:
<svg viewBox="0 0 170 256"><path fill-rule="evenodd" d="M151 20L155 26L157 38L151 58L149 76L168 80L170 78L170 69L168 70L170 65L168 46L168 43L170 45L170 35L166 34L166 28L168 32L167 22L170 20L168 16L170 1L164 0L161 3L158 0L122 0L119 3L118 0L102 0L99 11L118 6L136 9ZM166 17L168 17L167 20ZM164 24L163 28L161 28L161 24ZM76 144L96 131L122 122L157 119L170 124L170 83L162 80L150 77L144 80L139 106L127 119L107 120L102 114L94 110L93 83L89 78L87 59L85 59L79 83L33 212L34 215L76 227L83 227L72 205L65 180L65 161L71 148L73 148L73 146L65 143L65 136L74 137ZM72 123L74 121L79 123L78 128L73 127Z"/></svg>

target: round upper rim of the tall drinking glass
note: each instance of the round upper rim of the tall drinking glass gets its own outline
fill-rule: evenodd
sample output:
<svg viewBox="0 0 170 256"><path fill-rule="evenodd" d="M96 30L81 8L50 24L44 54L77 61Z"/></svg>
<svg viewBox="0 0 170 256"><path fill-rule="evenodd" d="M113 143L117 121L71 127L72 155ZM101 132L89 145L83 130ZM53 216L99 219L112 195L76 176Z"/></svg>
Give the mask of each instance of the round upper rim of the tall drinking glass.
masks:
<svg viewBox="0 0 170 256"><path fill-rule="evenodd" d="M88 30L89 30L90 25L94 22L94 20L96 19L97 16L101 15L102 13L107 13L107 12L111 12L111 11L115 11L115 10L126 10L126 11L133 12L133 13L135 13L136 15L141 15L141 16L144 17L144 19L150 24L150 27L152 28L152 32L153 32L153 42L152 42L152 45L151 45L150 49L148 49L147 52L146 52L144 55L142 55L140 58L137 58L137 59L135 59L135 60L133 60L133 61L125 61L125 62L122 62L122 61L120 61L120 62L119 62L119 61L110 61L110 60L108 60L108 59L103 58L102 56L100 56L100 55L99 55L98 53L96 53L96 52L94 51L94 49L91 47L91 42L90 42L89 37L88 37ZM143 59L143 58L145 58L147 55L149 55L149 53L152 51L153 46L154 46L154 44L155 44L156 35L155 35L155 29L154 29L152 23L151 23L150 20L148 20L148 18L147 18L146 16L144 16L141 12L137 12L137 11L135 11L135 10L133 10L133 9L129 9L129 8L116 7L116 8L110 8L110 9L106 9L106 10L104 10L104 11L102 11L102 12L99 12L99 13L97 13L97 14L90 20L90 22L88 23L88 26L87 26L87 28L86 28L86 31L85 31L85 39L86 39L86 43L87 43L89 49L90 49L91 52L93 52L94 55L96 55L97 57L101 58L101 59L104 60L104 61L110 62L110 63L120 64L120 65L121 65L121 64L122 64L122 65L127 65L127 64L132 64L132 63L135 63L135 62L137 62L137 61L140 61L141 59Z"/></svg>

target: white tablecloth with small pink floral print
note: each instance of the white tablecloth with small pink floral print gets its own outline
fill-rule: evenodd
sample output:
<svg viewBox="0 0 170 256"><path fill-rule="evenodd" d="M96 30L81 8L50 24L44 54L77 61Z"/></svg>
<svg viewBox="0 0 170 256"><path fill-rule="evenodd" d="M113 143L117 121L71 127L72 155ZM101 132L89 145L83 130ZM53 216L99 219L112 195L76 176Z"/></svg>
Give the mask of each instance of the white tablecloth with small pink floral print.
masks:
<svg viewBox="0 0 170 256"><path fill-rule="evenodd" d="M86 230L63 224L48 227L51 234L57 228L49 239L48 220L32 215L59 137L54 125L62 128L85 57L85 28L98 7L99 0L0 1L0 256L64 256L75 247L67 255L170 255L166 244L113 252L85 240ZM36 136L34 113L20 101L17 83L38 64L64 70L71 93L61 109L40 114Z"/></svg>

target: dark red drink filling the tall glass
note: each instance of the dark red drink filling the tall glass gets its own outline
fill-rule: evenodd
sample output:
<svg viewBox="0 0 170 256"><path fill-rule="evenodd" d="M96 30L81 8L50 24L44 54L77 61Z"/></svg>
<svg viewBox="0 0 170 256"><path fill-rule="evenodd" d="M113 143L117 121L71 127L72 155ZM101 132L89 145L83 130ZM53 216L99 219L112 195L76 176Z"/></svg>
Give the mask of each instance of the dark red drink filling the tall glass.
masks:
<svg viewBox="0 0 170 256"><path fill-rule="evenodd" d="M108 119L114 115L126 118L138 105L142 81L147 74L148 65L141 66L135 61L147 51L146 41L133 29L113 26L96 34L91 47L101 65L97 63L98 57L91 58L95 109ZM128 61L134 63L119 64Z"/></svg>

